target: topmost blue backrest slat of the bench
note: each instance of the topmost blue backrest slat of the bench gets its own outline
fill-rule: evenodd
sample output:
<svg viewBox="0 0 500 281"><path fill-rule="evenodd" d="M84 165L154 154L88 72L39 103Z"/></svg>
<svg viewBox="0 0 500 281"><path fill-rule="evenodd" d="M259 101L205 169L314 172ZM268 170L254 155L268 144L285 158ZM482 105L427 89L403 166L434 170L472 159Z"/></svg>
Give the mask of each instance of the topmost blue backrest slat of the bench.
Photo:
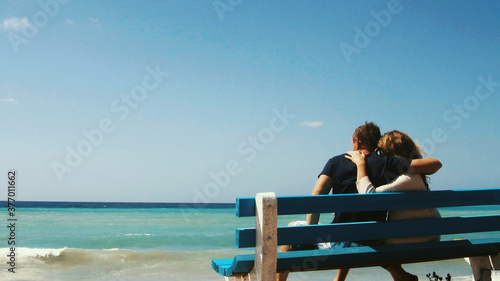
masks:
<svg viewBox="0 0 500 281"><path fill-rule="evenodd" d="M499 205L500 189L278 197L278 215ZM255 198L237 198L236 216L255 216Z"/></svg>

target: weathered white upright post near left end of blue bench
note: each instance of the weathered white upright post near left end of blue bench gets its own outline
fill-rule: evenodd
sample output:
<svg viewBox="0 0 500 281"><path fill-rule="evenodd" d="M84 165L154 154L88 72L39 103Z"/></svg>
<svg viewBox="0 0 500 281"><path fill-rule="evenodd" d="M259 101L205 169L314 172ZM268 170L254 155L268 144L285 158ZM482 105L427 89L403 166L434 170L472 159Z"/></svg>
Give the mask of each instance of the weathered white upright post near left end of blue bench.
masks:
<svg viewBox="0 0 500 281"><path fill-rule="evenodd" d="M276 194L258 193L255 197L255 263L251 281L276 280L278 258L278 200Z"/></svg>

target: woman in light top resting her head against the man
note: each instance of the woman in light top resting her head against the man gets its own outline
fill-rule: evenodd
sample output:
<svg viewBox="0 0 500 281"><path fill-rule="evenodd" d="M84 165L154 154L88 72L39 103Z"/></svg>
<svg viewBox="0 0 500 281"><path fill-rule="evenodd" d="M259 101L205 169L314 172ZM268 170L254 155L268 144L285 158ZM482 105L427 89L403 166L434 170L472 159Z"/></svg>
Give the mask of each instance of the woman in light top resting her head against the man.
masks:
<svg viewBox="0 0 500 281"><path fill-rule="evenodd" d="M378 143L381 154L386 156L405 157L410 159L421 159L422 153L417 144L405 133L392 131L385 133ZM366 173L365 155L362 152L348 152L346 158L357 166L356 187L359 193L395 192L395 191L428 191L427 178L420 174L403 174L392 183L375 188ZM418 219L440 217L435 208L392 210L389 212L389 220ZM411 237L387 239L386 244L416 243L438 240L439 236ZM401 265L390 265L386 268L395 281L418 280L416 276L407 273Z"/></svg>

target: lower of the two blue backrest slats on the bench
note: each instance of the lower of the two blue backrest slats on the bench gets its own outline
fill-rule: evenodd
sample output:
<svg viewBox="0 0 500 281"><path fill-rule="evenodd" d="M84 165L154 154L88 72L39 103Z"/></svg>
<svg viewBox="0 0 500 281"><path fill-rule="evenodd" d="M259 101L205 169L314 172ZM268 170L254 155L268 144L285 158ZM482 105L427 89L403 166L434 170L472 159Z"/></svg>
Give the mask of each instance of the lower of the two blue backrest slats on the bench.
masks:
<svg viewBox="0 0 500 281"><path fill-rule="evenodd" d="M464 225L467 227L465 228ZM500 215L278 227L278 245L499 231ZM366 231L369 229L370 231ZM255 247L255 228L236 229L236 247Z"/></svg>

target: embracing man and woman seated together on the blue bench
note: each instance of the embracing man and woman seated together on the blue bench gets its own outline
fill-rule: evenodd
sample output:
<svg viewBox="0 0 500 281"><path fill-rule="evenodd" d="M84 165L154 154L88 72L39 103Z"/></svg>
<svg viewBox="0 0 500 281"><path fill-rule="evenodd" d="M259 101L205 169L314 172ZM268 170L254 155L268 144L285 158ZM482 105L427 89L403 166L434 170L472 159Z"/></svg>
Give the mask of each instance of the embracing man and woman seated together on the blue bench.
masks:
<svg viewBox="0 0 500 281"><path fill-rule="evenodd" d="M381 136L379 127L370 122L358 127L352 137L353 151L331 158L313 188L311 195L368 193L387 191L428 190L425 175L433 174L441 168L437 159L422 159L418 146L411 138L399 131L392 131ZM378 150L380 155L375 151ZM394 157L396 156L396 157ZM332 223L385 221L387 212L336 213ZM436 209L399 210L389 213L390 220L439 216ZM307 215L307 222L292 222L289 225L317 224L319 214ZM410 240L408 240L410 239ZM378 243L424 242L439 237L416 237L391 239L387 241L362 241L362 245ZM334 243L317 247L353 247L354 242ZM326 243L328 244L328 243ZM316 246L316 245L314 245ZM280 251L308 249L304 245L281 246ZM310 249L310 248L309 248ZM406 272L401 265L384 267L395 281L418 280L417 276ZM346 279L349 269L337 270L335 281ZM283 281L288 272L277 274L277 280Z"/></svg>

